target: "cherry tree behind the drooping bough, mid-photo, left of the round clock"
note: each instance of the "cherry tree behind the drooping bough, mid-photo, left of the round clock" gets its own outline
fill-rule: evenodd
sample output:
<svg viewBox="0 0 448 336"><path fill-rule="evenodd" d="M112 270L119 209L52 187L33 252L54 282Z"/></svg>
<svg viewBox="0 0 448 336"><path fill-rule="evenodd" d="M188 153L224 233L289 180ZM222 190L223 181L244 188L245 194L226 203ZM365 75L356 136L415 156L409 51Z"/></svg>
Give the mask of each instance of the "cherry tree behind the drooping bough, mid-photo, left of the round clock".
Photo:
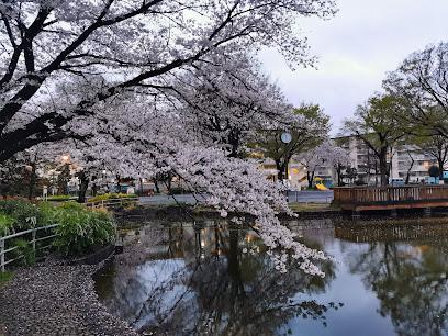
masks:
<svg viewBox="0 0 448 336"><path fill-rule="evenodd" d="M203 144L242 157L256 132L303 121L259 68L254 56L236 54L220 66L203 66L179 80L182 122Z"/></svg>

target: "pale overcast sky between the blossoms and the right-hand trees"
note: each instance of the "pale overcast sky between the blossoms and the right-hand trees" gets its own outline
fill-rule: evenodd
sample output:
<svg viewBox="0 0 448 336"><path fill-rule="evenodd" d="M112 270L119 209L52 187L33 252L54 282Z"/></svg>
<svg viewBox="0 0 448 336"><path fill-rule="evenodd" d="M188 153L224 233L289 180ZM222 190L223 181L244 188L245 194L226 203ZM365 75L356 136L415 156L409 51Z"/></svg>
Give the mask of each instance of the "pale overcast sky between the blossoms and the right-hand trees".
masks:
<svg viewBox="0 0 448 336"><path fill-rule="evenodd" d="M318 103L332 116L333 134L356 107L381 90L387 71L412 52L448 41L448 0L336 0L328 21L302 19L317 69L287 66L275 51L260 58L265 70L294 104Z"/></svg>

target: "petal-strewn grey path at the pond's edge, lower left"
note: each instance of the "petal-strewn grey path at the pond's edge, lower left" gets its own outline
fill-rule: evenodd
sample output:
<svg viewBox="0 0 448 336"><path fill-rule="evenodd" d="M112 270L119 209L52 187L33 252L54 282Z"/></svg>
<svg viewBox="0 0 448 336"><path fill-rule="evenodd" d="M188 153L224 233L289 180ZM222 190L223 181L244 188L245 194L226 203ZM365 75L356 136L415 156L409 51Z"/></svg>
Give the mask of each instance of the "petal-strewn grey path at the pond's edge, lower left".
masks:
<svg viewBox="0 0 448 336"><path fill-rule="evenodd" d="M20 269L0 288L0 335L137 336L97 300L94 266Z"/></svg>

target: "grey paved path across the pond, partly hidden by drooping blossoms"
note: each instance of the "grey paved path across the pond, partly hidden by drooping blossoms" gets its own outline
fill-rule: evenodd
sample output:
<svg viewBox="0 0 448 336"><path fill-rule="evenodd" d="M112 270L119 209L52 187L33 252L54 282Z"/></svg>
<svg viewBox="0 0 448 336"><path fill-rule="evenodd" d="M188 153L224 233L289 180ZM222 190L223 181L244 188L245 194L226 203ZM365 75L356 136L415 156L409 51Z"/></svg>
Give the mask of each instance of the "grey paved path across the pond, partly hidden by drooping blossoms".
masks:
<svg viewBox="0 0 448 336"><path fill-rule="evenodd" d="M142 205L173 205L176 200L179 203L184 204L195 204L197 200L190 193L186 194L156 194L153 197L141 197L139 203ZM203 200L201 194L197 195L199 202ZM289 202L299 202L299 203L331 203L333 201L333 191L314 191L314 190L304 190L304 191L289 191L288 193Z"/></svg>

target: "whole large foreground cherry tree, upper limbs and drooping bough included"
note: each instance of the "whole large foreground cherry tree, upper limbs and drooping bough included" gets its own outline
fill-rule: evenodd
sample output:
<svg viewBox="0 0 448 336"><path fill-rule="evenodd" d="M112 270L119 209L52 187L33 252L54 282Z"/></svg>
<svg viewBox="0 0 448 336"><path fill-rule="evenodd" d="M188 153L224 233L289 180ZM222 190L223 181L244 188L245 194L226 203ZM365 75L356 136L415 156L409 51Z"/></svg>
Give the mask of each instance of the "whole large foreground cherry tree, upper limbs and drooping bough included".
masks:
<svg viewBox="0 0 448 336"><path fill-rule="evenodd" d="M276 216L292 214L281 188L268 182L255 163L223 150L228 141L210 144L192 132L179 109L186 107L180 98L191 94L181 90L179 79L194 83L193 96L205 94L199 83L206 89L210 80L223 79L213 97L217 92L232 104L217 105L220 115L229 117L251 102L261 107L269 100L266 92L279 97L277 89L246 67L243 74L254 76L244 83L250 86L232 90L237 78L228 74L237 74L242 63L225 60L273 46L291 65L310 65L306 40L294 33L296 19L334 13L332 0L3 1L0 161L36 144L77 139L85 145L81 157L117 175L171 173L206 194L222 216L235 222L243 214L253 216L277 269L284 271L292 256L301 269L322 276L313 260L324 254L296 242ZM201 71L211 65L222 67L213 71L219 77ZM189 107L204 103L193 100ZM258 108L244 114L254 111Z"/></svg>

